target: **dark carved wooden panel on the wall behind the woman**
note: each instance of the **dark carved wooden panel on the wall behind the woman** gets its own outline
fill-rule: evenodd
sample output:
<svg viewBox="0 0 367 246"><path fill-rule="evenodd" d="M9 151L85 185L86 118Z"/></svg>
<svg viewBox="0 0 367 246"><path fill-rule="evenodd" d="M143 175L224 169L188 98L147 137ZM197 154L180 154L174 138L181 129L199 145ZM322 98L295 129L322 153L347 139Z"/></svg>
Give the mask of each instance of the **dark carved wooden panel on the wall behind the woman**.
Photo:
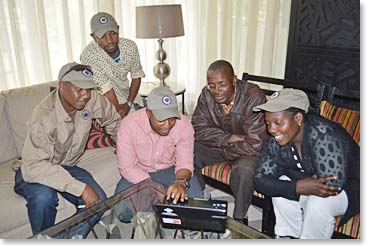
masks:
<svg viewBox="0 0 367 246"><path fill-rule="evenodd" d="M293 0L289 31L286 79L359 90L359 1Z"/></svg>

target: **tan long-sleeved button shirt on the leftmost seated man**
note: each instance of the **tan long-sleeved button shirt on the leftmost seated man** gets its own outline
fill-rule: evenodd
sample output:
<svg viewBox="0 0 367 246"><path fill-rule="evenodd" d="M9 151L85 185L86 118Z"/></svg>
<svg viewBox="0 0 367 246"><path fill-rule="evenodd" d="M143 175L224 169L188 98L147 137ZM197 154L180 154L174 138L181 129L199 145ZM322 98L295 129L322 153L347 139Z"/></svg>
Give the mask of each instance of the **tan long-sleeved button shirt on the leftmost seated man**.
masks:
<svg viewBox="0 0 367 246"><path fill-rule="evenodd" d="M32 112L22 151L22 174L27 182L50 186L80 196L84 183L61 165L77 165L84 154L92 119L97 119L116 140L120 116L103 95L92 91L85 108L74 121L61 105L58 90L48 95Z"/></svg>

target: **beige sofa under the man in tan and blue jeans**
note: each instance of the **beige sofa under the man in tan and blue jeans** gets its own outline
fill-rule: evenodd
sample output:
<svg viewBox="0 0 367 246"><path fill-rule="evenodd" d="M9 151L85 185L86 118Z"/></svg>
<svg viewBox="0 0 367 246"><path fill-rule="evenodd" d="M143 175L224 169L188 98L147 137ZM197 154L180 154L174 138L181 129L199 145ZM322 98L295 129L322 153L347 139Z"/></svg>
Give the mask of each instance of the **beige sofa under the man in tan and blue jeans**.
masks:
<svg viewBox="0 0 367 246"><path fill-rule="evenodd" d="M26 120L32 109L49 93L50 82L0 93L0 238L23 239L32 236L25 199L14 192L12 163L21 157L26 135ZM120 179L114 149L87 150L88 170L111 196ZM75 207L59 196L56 222L75 213Z"/></svg>

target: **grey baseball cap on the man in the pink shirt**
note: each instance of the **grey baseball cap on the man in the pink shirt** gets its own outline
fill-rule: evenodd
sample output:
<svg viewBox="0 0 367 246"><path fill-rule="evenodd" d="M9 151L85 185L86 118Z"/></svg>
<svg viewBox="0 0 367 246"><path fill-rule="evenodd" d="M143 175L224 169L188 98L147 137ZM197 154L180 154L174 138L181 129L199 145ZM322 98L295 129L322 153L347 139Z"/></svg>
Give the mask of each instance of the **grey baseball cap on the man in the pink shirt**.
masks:
<svg viewBox="0 0 367 246"><path fill-rule="evenodd" d="M175 93L165 86L156 87L149 93L147 108L159 121L180 118Z"/></svg>

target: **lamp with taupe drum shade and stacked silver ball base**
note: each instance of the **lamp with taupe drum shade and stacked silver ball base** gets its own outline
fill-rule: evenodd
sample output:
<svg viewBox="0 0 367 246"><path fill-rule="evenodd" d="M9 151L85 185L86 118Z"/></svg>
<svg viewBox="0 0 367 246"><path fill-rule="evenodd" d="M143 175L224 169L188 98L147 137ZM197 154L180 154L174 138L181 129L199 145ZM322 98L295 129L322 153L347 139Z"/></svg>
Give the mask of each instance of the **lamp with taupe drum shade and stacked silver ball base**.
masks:
<svg viewBox="0 0 367 246"><path fill-rule="evenodd" d="M154 66L153 72L161 86L168 86L164 80L169 76L171 70L164 62L167 53L163 49L163 38L179 37L184 34L181 5L136 7L136 37L158 38L159 50L155 57L159 63Z"/></svg>

